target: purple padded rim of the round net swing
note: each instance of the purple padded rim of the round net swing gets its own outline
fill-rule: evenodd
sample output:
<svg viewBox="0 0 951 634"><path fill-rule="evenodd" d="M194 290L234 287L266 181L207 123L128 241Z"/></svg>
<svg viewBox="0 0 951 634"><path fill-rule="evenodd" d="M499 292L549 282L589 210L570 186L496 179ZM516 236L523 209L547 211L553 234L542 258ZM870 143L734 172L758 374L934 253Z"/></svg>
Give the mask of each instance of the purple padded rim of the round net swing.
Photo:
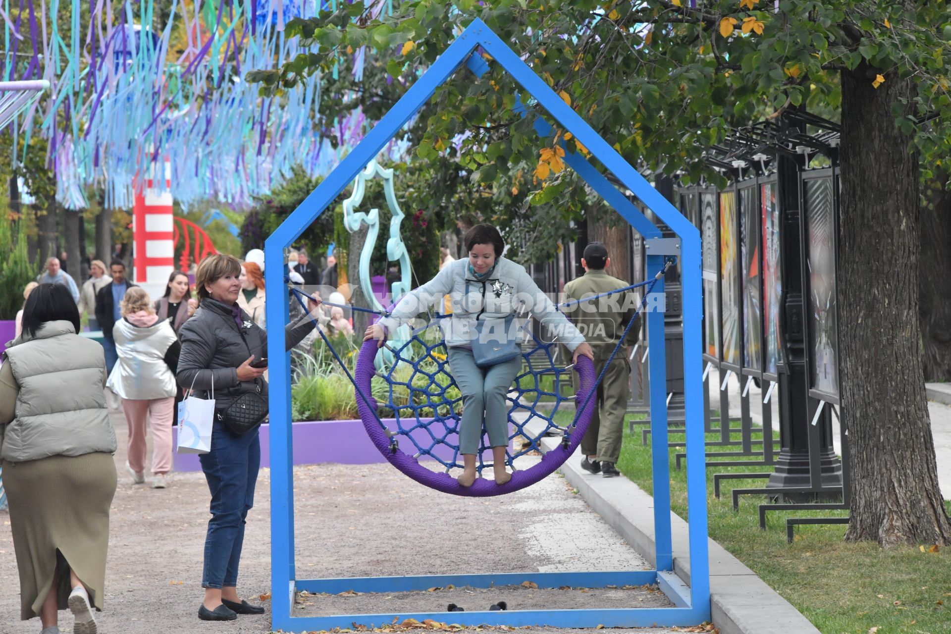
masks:
<svg viewBox="0 0 951 634"><path fill-rule="evenodd" d="M488 478L476 478L472 487L466 488L456 482L456 478L449 473L441 471L432 471L420 465L411 455L403 451L390 450L390 437L378 421L377 400L373 398L370 389L370 383L375 375L374 359L378 354L378 342L375 339L369 339L360 346L359 356L357 357L357 367L354 370L354 381L356 384L355 395L357 398L357 411L360 420L363 421L363 428L373 442L377 450L386 460L402 471L408 477L416 480L419 484L442 491L443 493L452 493L464 497L489 497L492 495L503 495L512 493L516 490L525 489L534 485L539 480L551 475L554 470L562 465L565 460L577 449L588 430L588 424L591 422L592 413L597 406L597 399L588 398L594 387L597 375L594 373L594 364L587 356L579 356L578 362L574 365L578 373L579 388L575 396L575 403L585 403L584 409L577 416L577 425L572 432L571 443L568 449L559 444L556 449L548 451L542 456L542 459L526 470L518 470L512 473L512 479L504 485L496 485L494 480ZM360 393L366 394L370 403L360 397ZM371 409L371 403L373 409Z"/></svg>

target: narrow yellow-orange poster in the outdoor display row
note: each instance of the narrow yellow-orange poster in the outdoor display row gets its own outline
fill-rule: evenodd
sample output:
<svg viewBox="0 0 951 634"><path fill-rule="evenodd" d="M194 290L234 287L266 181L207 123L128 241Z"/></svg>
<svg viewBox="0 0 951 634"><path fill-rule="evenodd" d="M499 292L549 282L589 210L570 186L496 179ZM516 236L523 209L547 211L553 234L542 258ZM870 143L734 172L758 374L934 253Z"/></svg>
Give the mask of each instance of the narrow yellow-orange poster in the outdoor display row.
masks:
<svg viewBox="0 0 951 634"><path fill-rule="evenodd" d="M737 248L736 192L720 193L720 305L723 361L740 365L740 253Z"/></svg>

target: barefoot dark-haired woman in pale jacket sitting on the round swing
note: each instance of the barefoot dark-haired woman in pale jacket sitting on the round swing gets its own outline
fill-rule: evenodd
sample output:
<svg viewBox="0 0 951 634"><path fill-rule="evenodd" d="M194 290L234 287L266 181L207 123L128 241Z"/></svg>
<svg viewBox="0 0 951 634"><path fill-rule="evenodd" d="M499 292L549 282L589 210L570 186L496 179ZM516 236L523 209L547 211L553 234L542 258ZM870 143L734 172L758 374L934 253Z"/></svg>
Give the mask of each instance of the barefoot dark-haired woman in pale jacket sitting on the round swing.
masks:
<svg viewBox="0 0 951 634"><path fill-rule="evenodd" d="M449 353L449 367L462 393L459 452L463 471L456 478L463 487L476 481L476 452L482 419L492 445L495 484L512 479L505 469L509 445L509 416L505 396L521 367L517 334L513 328L519 305L527 303L535 318L556 333L573 353L593 360L591 346L571 321L534 283L525 267L502 258L504 243L494 226L476 224L464 237L469 259L448 263L437 276L400 298L390 317L366 329L363 340L376 338L379 346L388 333L412 317L452 299L452 317L439 320Z"/></svg>

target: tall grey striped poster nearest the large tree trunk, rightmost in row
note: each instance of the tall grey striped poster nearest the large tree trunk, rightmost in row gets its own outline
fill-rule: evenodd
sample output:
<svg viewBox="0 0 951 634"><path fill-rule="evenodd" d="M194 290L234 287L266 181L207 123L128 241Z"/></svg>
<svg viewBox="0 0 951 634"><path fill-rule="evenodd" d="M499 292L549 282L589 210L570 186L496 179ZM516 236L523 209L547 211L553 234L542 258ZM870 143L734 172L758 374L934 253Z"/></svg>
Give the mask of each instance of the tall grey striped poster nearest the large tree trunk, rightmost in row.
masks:
<svg viewBox="0 0 951 634"><path fill-rule="evenodd" d="M839 394L839 325L836 320L835 223L832 179L805 182L809 256L811 387Z"/></svg>

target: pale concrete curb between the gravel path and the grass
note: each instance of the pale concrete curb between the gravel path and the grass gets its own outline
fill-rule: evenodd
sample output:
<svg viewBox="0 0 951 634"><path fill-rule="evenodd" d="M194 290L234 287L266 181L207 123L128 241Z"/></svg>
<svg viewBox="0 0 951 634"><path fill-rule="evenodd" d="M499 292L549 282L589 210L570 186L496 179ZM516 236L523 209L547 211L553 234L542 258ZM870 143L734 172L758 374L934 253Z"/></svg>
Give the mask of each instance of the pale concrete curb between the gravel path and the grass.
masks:
<svg viewBox="0 0 951 634"><path fill-rule="evenodd" d="M560 438L545 438L542 446L553 449ZM603 478L581 469L580 453L562 465L560 471L578 493L628 544L651 564L654 559L653 498L626 477ZM687 522L670 513L673 540L673 570L690 583ZM713 624L720 634L767 634L796 632L820 634L795 607L776 593L713 540L708 540L710 603Z"/></svg>

